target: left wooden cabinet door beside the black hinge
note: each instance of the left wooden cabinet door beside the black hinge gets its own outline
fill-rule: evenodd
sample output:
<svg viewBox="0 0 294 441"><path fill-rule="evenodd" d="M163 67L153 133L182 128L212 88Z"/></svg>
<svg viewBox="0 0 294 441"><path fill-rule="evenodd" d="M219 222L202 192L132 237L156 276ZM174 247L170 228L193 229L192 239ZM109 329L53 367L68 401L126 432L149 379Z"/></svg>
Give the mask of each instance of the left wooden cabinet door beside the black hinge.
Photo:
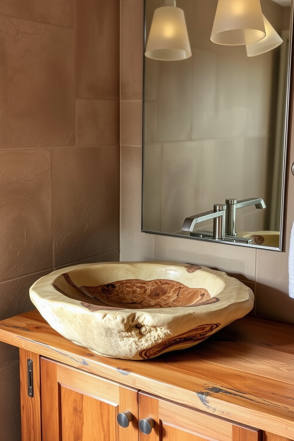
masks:
<svg viewBox="0 0 294 441"><path fill-rule="evenodd" d="M41 417L42 441L135 441L138 390L41 357Z"/></svg>

